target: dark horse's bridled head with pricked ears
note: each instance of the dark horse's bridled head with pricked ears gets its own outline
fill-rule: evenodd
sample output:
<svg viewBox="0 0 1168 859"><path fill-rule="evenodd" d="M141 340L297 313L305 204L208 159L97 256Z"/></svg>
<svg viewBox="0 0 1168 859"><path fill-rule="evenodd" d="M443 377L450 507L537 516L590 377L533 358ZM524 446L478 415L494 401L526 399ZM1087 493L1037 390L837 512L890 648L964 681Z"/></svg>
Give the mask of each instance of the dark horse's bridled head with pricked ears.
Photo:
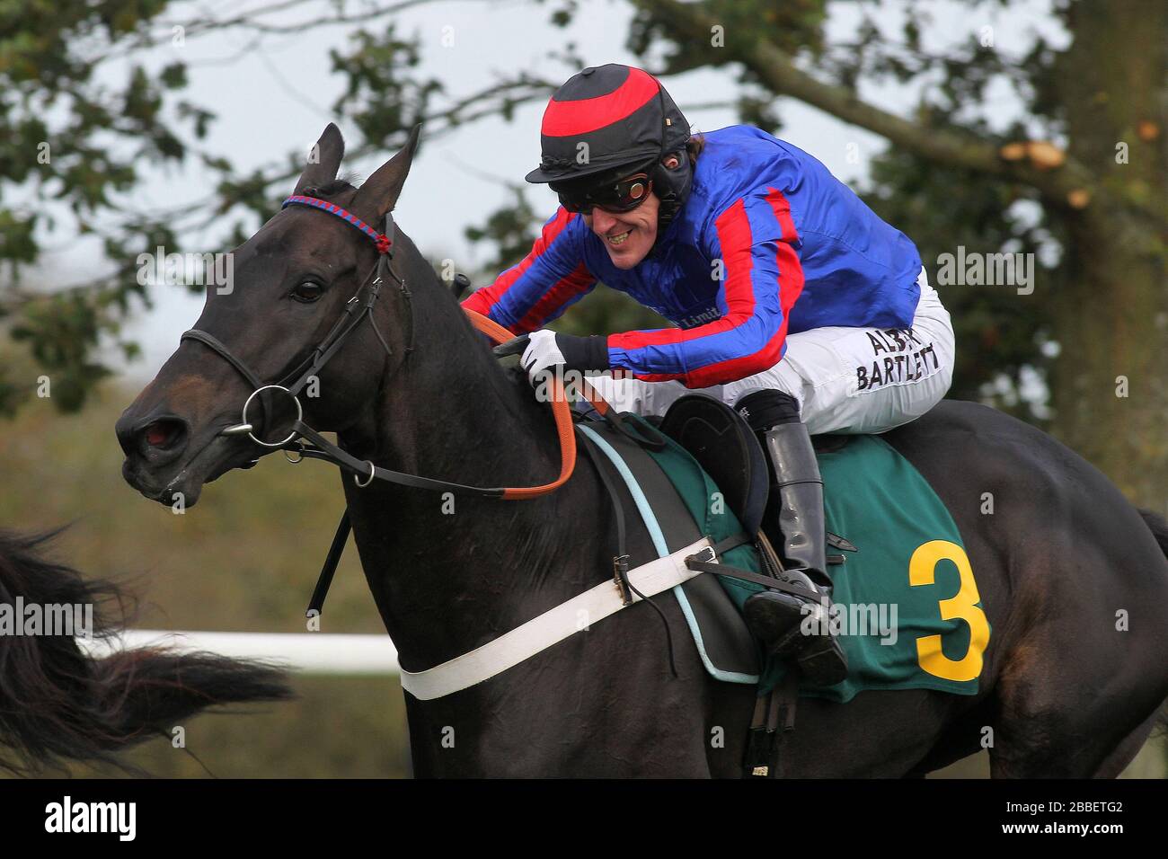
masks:
<svg viewBox="0 0 1168 859"><path fill-rule="evenodd" d="M293 196L340 207L349 217L286 205L231 251L231 280L208 285L195 327L117 422L123 474L134 489L167 505L181 493L189 506L204 483L276 450L301 408L305 421L326 431L373 420L377 392L412 337L404 285L401 293L387 290L378 303L385 286L378 279L391 269L425 269L437 278L408 240L391 269L380 265L383 248L353 226L364 222L376 234L390 222L417 141L416 127L355 188L336 178L345 152L340 131L325 129ZM334 342L326 361L317 361ZM256 394L276 383L285 389Z"/></svg>

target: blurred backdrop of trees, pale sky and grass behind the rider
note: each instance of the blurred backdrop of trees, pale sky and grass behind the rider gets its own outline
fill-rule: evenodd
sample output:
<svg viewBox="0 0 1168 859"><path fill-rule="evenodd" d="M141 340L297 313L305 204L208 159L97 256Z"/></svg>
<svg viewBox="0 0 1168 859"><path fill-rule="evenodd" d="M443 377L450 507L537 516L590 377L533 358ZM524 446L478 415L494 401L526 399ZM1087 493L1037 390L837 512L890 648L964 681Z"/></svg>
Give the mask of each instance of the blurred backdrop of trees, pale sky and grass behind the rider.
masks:
<svg viewBox="0 0 1168 859"><path fill-rule="evenodd" d="M333 469L265 459L183 515L121 482L113 422L202 305L200 272L140 277L139 255L237 245L328 122L357 180L423 122L399 228L447 277L487 284L555 210L522 182L550 92L606 62L661 77L696 131L749 123L823 161L920 249L957 328L951 396L1054 432L1168 512L1162 2L13 0L0 527L72 522L55 556L132 582L137 626L303 631L342 506ZM1031 284L945 283L959 252L1033 255ZM557 325L658 326L605 290ZM352 548L324 631L382 631ZM297 691L130 760L175 776L409 774L396 680ZM986 773L978 756L943 775ZM1163 774L1155 742L1128 770Z"/></svg>

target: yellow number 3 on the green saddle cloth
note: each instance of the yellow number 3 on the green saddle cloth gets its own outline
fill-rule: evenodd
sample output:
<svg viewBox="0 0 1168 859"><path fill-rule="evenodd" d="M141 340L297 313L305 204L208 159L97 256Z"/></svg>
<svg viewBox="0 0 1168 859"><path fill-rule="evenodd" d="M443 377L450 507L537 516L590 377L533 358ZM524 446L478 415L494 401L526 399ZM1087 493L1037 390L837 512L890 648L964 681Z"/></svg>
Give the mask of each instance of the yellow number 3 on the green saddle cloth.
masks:
<svg viewBox="0 0 1168 859"><path fill-rule="evenodd" d="M932 584L938 561L952 561L961 577L961 587L948 600L939 602L943 621L954 617L969 626L969 647L960 659L950 659L941 652L940 636L922 636L917 639L917 661L923 671L946 680L973 680L981 673L981 654L989 644L989 622L986 612L974 603L978 583L973 581L973 567L965 549L948 540L932 540L922 543L909 561L909 584Z"/></svg>

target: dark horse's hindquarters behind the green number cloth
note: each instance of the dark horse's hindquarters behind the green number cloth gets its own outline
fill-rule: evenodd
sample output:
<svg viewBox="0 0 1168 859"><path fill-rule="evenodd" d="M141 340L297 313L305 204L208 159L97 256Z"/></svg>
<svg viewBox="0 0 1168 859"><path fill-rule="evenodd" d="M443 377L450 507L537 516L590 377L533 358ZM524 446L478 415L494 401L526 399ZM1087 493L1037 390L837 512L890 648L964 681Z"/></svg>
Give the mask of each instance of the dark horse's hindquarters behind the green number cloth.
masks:
<svg viewBox="0 0 1168 859"><path fill-rule="evenodd" d="M885 438L948 506L993 624L992 775L1108 770L1168 697L1168 566L1148 526L1085 460L989 409L946 402Z"/></svg>

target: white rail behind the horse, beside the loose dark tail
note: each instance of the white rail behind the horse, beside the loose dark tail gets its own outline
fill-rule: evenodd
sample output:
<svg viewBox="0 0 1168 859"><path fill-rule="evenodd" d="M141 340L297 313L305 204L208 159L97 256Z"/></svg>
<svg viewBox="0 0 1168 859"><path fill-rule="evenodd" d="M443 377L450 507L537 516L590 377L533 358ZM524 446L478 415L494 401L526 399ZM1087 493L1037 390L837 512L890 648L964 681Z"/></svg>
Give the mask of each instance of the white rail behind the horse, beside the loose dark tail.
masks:
<svg viewBox="0 0 1168 859"><path fill-rule="evenodd" d="M109 653L117 642L77 639L95 656ZM182 651L209 651L238 659L271 659L290 671L328 676L397 676L397 651L389 636L324 632L188 632L123 630L125 647L167 645Z"/></svg>

